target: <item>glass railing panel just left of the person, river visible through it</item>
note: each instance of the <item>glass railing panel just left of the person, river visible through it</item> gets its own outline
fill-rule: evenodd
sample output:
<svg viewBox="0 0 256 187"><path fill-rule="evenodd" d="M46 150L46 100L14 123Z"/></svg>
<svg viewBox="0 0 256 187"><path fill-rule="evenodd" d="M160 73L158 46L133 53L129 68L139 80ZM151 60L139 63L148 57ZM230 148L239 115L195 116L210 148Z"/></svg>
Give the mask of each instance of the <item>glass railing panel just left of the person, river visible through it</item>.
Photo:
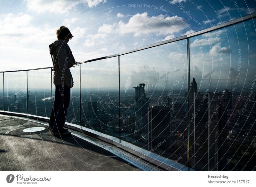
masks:
<svg viewBox="0 0 256 187"><path fill-rule="evenodd" d="M51 111L51 68L28 71L28 114L49 118Z"/></svg>

